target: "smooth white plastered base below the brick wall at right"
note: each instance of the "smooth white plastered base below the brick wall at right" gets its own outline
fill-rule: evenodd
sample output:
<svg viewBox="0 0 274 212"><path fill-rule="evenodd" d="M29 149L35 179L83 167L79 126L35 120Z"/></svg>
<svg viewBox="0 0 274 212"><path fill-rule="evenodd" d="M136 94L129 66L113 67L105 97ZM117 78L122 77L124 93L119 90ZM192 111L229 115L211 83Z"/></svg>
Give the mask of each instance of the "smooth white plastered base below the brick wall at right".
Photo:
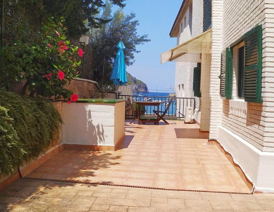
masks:
<svg viewBox="0 0 274 212"><path fill-rule="evenodd" d="M274 153L263 152L219 126L217 140L253 183L254 192L274 192Z"/></svg>

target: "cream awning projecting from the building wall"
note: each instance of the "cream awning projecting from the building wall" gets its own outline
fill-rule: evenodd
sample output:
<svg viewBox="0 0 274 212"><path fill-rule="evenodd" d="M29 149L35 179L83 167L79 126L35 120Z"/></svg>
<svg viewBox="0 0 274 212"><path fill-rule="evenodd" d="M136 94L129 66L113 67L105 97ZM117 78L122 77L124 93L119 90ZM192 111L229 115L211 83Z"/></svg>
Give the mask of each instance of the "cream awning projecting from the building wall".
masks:
<svg viewBox="0 0 274 212"><path fill-rule="evenodd" d="M161 63L167 61L175 62L200 62L200 54L211 54L212 29L192 38L185 43L161 54Z"/></svg>

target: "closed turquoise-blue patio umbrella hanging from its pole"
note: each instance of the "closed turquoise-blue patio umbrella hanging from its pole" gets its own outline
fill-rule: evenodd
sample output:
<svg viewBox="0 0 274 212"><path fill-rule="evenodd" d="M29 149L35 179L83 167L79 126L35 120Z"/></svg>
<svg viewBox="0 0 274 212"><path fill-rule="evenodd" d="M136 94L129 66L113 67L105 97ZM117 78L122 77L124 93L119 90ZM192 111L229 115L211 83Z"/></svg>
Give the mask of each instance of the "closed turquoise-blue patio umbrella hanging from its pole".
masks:
<svg viewBox="0 0 274 212"><path fill-rule="evenodd" d="M113 81L115 85L123 85L128 82L124 56L124 43L120 41L116 48L118 48L118 51L110 75L110 80Z"/></svg>

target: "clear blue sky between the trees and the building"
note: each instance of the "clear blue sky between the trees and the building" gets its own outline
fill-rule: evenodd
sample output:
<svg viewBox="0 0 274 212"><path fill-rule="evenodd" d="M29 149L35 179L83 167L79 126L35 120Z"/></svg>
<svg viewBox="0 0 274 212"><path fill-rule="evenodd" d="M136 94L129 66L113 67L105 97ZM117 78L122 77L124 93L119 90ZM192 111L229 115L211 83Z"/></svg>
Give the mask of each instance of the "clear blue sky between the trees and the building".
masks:
<svg viewBox="0 0 274 212"><path fill-rule="evenodd" d="M174 88L175 62L160 63L160 54L176 46L169 32L182 0L128 0L124 13L134 12L139 20L138 34L148 34L149 43L137 46L135 63L127 71L146 83L149 89ZM113 8L115 10L115 8ZM161 91L163 92L163 91Z"/></svg>

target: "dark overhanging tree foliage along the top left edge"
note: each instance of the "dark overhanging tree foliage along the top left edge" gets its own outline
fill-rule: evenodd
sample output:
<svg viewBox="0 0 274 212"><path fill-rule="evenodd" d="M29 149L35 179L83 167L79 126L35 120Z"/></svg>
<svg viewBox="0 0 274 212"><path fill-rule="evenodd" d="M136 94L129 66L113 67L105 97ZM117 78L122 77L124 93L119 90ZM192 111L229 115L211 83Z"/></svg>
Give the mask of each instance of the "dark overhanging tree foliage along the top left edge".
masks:
<svg viewBox="0 0 274 212"><path fill-rule="evenodd" d="M125 0L110 0L119 7L124 7ZM98 18L103 0L7 0L2 2L4 39L12 40L18 36L19 29L37 32L50 17L64 17L68 28L68 38L79 39L88 28L99 28L110 20ZM2 10L2 5L1 5ZM2 35L1 33L1 35Z"/></svg>

